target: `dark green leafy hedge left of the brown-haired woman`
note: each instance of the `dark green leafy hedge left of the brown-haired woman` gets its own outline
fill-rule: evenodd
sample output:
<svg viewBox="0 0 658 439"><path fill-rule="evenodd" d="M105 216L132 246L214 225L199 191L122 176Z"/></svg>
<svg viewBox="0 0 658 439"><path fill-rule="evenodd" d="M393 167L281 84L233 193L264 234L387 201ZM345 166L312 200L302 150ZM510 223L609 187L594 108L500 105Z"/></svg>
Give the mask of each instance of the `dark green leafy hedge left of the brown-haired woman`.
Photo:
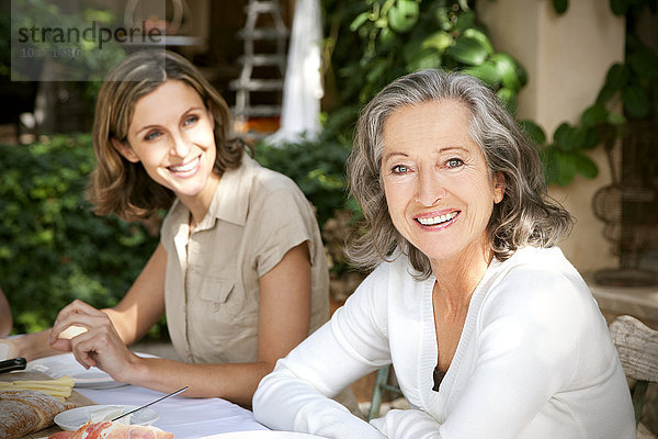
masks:
<svg viewBox="0 0 658 439"><path fill-rule="evenodd" d="M0 285L14 330L49 327L73 299L116 304L158 239L138 223L91 212L83 196L94 166L90 136L1 145L0 161Z"/></svg>

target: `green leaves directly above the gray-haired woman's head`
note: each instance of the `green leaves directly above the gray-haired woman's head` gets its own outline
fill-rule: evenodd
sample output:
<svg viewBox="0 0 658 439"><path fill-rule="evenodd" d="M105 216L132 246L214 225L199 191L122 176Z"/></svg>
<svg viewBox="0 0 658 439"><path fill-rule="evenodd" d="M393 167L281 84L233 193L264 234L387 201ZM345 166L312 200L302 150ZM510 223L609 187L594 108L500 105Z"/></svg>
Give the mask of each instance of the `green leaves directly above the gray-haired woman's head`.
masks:
<svg viewBox="0 0 658 439"><path fill-rule="evenodd" d="M445 68L483 79L514 110L525 71L494 49L467 1L325 0L324 5L329 27L338 29L329 46L342 104L363 105L408 72Z"/></svg>

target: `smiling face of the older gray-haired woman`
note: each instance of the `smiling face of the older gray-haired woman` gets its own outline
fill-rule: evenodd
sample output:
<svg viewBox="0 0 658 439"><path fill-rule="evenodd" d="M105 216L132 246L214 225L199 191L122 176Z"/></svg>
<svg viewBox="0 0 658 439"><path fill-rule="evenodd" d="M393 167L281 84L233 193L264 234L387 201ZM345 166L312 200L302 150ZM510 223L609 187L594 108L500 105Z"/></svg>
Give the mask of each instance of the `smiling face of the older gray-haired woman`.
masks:
<svg viewBox="0 0 658 439"><path fill-rule="evenodd" d="M504 183L491 180L456 101L404 106L384 125L382 177L396 229L432 263L481 254Z"/></svg>

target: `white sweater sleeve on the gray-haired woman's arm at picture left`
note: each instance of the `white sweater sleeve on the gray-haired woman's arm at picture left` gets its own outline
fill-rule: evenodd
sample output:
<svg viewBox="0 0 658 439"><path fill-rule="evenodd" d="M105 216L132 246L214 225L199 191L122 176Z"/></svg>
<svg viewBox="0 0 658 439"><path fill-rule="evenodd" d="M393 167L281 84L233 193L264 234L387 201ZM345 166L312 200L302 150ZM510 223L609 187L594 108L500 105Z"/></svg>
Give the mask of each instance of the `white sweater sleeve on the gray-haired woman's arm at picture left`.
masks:
<svg viewBox="0 0 658 439"><path fill-rule="evenodd" d="M330 322L261 381L253 396L258 421L326 438L383 437L330 399L354 380L390 362L385 291L377 292L383 278L382 270L373 272Z"/></svg>

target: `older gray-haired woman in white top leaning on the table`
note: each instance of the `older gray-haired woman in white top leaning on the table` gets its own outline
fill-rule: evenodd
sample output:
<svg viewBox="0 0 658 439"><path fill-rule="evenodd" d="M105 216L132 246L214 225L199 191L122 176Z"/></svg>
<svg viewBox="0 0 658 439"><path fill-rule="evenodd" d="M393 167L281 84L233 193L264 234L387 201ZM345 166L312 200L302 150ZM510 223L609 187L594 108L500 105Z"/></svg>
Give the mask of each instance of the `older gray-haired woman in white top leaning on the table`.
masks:
<svg viewBox="0 0 658 439"><path fill-rule="evenodd" d="M427 70L365 108L349 164L376 267L330 323L261 381L277 429L328 438L634 437L605 320L555 245L532 144L474 78ZM411 409L371 425L331 396L393 363Z"/></svg>

